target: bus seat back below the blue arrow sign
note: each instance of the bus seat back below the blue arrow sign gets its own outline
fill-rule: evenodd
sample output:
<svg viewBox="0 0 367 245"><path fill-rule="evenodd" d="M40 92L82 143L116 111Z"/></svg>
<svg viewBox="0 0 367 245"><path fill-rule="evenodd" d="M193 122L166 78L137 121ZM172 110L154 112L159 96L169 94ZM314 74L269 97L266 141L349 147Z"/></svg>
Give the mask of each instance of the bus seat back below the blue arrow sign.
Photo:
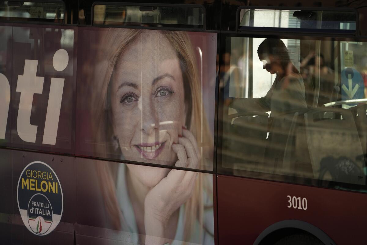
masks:
<svg viewBox="0 0 367 245"><path fill-rule="evenodd" d="M363 151L352 112L342 108L315 108L304 115L307 147L315 179L320 177L320 163L328 156L356 159ZM337 149L337 150L336 150ZM357 167L363 169L362 163ZM346 172L355 173L356 171ZM359 171L357 171L359 172ZM338 181L338 180L334 180ZM365 176L350 178L353 184L361 184Z"/></svg>

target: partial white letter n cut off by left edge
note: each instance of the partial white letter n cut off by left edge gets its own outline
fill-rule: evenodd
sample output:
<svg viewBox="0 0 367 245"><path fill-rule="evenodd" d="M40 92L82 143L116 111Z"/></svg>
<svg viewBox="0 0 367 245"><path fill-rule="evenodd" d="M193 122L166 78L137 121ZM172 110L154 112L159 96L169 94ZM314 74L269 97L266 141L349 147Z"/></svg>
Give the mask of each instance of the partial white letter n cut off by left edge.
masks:
<svg viewBox="0 0 367 245"><path fill-rule="evenodd" d="M8 112L10 104L10 84L6 76L0 73L0 138L5 138L6 124L8 122Z"/></svg>

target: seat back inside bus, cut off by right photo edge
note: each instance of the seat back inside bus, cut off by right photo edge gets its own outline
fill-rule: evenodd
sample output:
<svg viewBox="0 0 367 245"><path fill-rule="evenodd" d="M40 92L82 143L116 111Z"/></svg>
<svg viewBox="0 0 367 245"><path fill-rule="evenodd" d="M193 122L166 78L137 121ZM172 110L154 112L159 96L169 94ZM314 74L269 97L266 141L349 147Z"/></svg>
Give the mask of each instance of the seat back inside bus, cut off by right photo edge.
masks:
<svg viewBox="0 0 367 245"><path fill-rule="evenodd" d="M367 104L357 105L355 107L349 108L353 114L354 121L356 123L356 128L359 135L359 140L361 141L363 155L367 154ZM353 159L355 160L355 159Z"/></svg>

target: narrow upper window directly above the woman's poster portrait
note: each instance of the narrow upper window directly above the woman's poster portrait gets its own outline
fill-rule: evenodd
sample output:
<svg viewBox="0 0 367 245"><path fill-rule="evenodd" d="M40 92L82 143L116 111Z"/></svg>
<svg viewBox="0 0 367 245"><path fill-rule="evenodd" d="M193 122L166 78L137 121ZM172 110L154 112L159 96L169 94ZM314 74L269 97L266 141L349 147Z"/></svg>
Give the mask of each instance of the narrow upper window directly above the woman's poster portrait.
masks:
<svg viewBox="0 0 367 245"><path fill-rule="evenodd" d="M203 29L204 9L202 6L93 6L94 25L127 25L186 27Z"/></svg>

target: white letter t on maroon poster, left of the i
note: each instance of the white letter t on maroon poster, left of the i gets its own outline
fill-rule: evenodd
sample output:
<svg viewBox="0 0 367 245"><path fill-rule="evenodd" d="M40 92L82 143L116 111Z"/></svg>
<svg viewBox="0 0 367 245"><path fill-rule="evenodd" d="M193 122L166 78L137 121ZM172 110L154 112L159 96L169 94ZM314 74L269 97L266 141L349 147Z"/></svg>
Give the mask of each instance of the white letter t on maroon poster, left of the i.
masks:
<svg viewBox="0 0 367 245"><path fill-rule="evenodd" d="M17 92L21 93L17 119L19 137L26 142L36 142L37 126L30 124L33 94L42 94L44 77L36 76L37 60L25 60L23 75L18 75Z"/></svg>

